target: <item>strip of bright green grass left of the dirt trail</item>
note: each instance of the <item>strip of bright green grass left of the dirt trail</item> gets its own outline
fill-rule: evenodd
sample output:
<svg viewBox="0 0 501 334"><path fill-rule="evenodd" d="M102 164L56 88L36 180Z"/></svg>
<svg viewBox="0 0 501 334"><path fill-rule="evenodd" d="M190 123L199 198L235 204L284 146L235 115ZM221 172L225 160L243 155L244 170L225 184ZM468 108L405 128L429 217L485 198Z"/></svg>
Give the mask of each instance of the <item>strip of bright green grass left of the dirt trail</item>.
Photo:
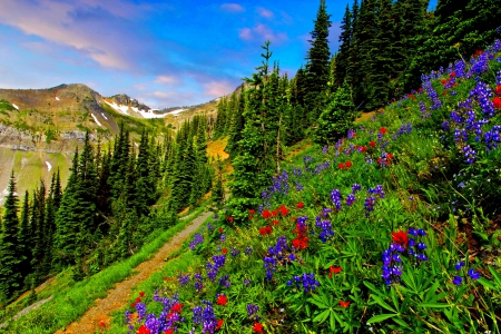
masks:
<svg viewBox="0 0 501 334"><path fill-rule="evenodd" d="M203 210L200 208L200 210ZM196 216L193 216L195 218ZM82 282L68 282L70 271L65 271L56 278L51 289L40 292L40 298L53 294L52 301L40 306L38 310L31 311L26 316L9 324L8 333L53 333L66 327L71 322L78 320L90 306L96 298L102 298L107 295L117 282L124 281L131 274L134 268L146 259L150 258L166 242L175 234L187 226L191 219L180 220L177 225L164 232L151 243L145 245L139 253L130 258L114 264L102 272L84 279ZM61 282L61 285L59 285ZM58 287L66 288L58 288ZM52 289L53 288L53 289Z"/></svg>

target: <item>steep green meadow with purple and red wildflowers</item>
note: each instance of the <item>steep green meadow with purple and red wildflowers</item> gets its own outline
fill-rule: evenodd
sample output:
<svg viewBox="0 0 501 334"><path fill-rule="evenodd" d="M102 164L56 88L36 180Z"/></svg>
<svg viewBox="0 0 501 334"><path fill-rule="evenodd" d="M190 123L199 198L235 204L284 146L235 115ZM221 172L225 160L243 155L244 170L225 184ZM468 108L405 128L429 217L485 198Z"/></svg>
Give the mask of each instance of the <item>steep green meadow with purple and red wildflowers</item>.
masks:
<svg viewBox="0 0 501 334"><path fill-rule="evenodd" d="M500 50L292 156L101 332L500 333Z"/></svg>

